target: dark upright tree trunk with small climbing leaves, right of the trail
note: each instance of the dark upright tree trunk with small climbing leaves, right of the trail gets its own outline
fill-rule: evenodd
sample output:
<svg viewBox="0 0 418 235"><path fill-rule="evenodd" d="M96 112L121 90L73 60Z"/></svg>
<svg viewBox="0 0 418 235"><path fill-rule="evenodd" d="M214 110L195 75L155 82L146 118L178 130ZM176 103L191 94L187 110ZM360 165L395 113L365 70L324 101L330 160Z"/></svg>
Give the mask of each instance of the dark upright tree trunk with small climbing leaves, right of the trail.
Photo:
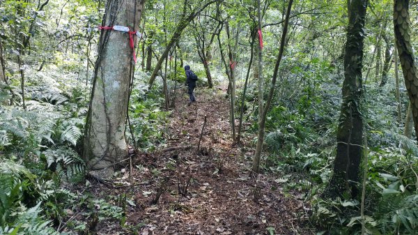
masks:
<svg viewBox="0 0 418 235"><path fill-rule="evenodd" d="M362 61L364 22L367 0L353 0L348 18L346 55L344 57L343 103L336 133L334 174L328 188L329 196L350 192L357 195L360 160L363 155Z"/></svg>

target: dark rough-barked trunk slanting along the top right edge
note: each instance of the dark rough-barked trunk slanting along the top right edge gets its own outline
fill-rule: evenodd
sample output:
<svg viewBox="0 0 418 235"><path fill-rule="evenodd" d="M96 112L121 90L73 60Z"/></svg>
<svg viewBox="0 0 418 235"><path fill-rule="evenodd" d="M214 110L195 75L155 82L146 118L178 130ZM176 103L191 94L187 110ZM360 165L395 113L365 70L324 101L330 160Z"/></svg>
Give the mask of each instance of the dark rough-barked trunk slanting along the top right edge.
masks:
<svg viewBox="0 0 418 235"><path fill-rule="evenodd" d="M418 71L410 43L409 0L394 1L394 28L403 78L411 102L415 133L418 133Z"/></svg>

